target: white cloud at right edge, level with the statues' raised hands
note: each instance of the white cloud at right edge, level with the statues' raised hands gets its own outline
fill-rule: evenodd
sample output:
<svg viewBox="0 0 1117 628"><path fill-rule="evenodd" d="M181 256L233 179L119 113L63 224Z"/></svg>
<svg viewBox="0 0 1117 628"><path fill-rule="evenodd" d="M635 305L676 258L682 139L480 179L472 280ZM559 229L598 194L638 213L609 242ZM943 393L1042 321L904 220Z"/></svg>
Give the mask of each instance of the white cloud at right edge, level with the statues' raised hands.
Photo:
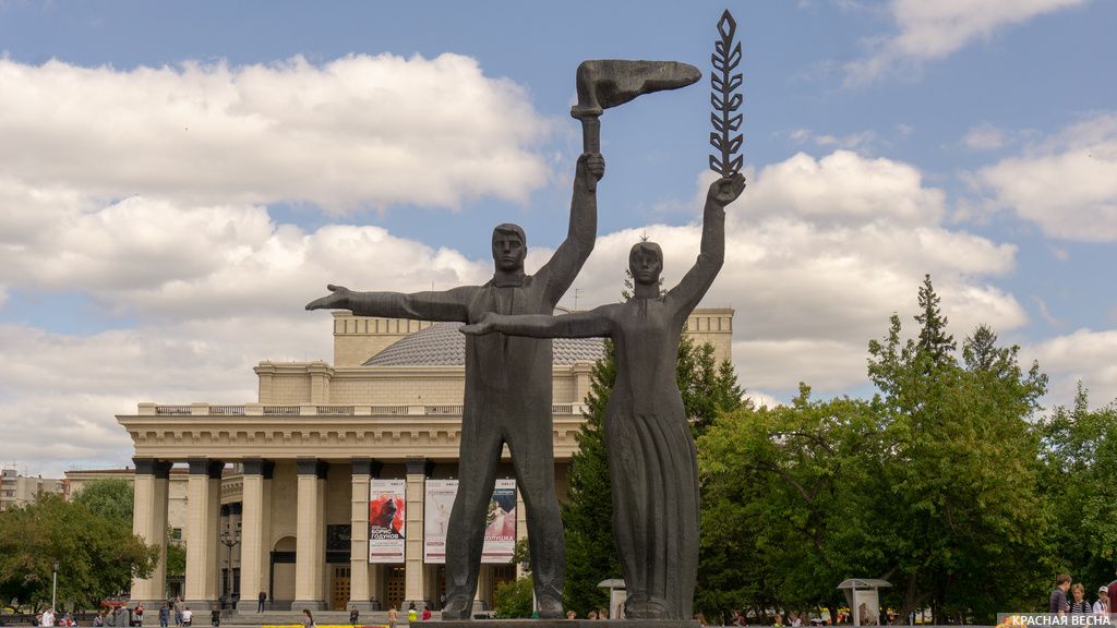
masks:
<svg viewBox="0 0 1117 628"><path fill-rule="evenodd" d="M974 177L1050 238L1117 240L1117 113L1091 115Z"/></svg>

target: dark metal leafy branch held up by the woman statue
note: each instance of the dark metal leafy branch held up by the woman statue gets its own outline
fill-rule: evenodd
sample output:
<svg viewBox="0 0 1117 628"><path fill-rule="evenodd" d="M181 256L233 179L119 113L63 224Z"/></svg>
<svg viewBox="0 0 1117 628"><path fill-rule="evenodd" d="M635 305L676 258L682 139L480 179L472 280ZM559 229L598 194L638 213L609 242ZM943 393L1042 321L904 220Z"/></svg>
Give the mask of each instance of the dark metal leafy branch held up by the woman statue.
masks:
<svg viewBox="0 0 1117 628"><path fill-rule="evenodd" d="M741 73L734 73L741 65L741 42L733 41L737 22L728 9L717 21L717 32L722 38L715 42L714 54L710 56L714 72L709 75L713 88L709 102L714 105L714 111L709 114L709 120L714 123L714 131L709 134L709 143L719 152L709 155L709 169L722 177L733 177L741 171L744 160L737 154L744 137L738 133L742 114L736 113L744 97L738 92Z"/></svg>

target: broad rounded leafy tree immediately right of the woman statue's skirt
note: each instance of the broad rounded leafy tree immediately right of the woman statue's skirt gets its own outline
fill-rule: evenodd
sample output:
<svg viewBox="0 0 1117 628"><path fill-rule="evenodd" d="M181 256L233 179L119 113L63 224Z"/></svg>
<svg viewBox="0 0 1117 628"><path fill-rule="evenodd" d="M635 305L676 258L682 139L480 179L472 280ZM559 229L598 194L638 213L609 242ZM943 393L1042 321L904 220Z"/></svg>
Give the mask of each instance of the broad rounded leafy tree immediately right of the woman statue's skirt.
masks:
<svg viewBox="0 0 1117 628"><path fill-rule="evenodd" d="M834 584L876 573L884 444L877 409L848 398L744 407L698 441L707 618L834 607Z"/></svg>

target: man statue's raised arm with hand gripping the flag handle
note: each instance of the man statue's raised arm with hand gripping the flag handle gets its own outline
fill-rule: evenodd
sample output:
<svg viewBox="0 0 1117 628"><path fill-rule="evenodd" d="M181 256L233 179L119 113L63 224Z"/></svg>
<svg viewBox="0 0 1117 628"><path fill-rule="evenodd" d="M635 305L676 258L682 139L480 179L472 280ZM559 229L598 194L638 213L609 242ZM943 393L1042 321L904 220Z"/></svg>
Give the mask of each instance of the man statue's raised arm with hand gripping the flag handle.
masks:
<svg viewBox="0 0 1117 628"><path fill-rule="evenodd" d="M604 173L605 160L600 153L582 153L577 158L566 239L535 274L537 282L545 282L552 303L558 303L593 251L598 238L598 181Z"/></svg>

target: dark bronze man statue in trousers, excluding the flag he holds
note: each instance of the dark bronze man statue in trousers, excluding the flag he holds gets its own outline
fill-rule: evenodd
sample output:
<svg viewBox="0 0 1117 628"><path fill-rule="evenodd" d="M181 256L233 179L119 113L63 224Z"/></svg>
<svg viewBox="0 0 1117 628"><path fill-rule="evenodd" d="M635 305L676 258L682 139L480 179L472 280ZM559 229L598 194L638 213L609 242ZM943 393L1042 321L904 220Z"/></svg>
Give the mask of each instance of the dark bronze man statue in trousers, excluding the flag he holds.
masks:
<svg viewBox="0 0 1117 628"><path fill-rule="evenodd" d="M478 322L490 313L551 314L593 250L598 231L596 182L604 168L604 160L598 153L579 158L566 239L534 275L524 273L527 254L524 230L505 223L493 230L496 272L485 285L413 294L353 292L331 285L327 287L332 294L311 302L306 308L462 323ZM565 556L554 488L552 362L550 340L500 334L466 340L459 484L446 539L443 619L470 617L485 541L485 514L505 444L512 451L517 484L527 507L538 615L562 617Z"/></svg>

